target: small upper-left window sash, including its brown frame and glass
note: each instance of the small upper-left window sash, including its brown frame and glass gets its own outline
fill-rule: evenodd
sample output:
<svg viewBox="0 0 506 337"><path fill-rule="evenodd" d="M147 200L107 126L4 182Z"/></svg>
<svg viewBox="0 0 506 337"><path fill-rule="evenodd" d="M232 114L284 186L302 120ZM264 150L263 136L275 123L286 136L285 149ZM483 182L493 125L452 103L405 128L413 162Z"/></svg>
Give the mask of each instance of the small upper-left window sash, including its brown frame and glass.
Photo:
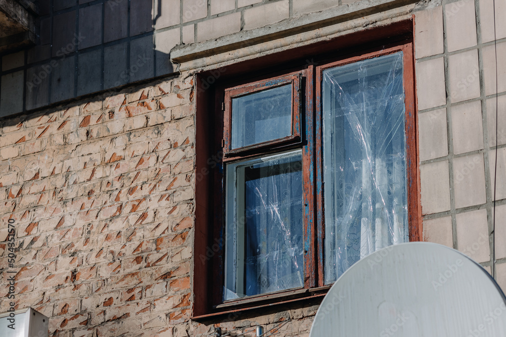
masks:
<svg viewBox="0 0 506 337"><path fill-rule="evenodd" d="M300 74L226 89L225 157L300 142L300 104Z"/></svg>

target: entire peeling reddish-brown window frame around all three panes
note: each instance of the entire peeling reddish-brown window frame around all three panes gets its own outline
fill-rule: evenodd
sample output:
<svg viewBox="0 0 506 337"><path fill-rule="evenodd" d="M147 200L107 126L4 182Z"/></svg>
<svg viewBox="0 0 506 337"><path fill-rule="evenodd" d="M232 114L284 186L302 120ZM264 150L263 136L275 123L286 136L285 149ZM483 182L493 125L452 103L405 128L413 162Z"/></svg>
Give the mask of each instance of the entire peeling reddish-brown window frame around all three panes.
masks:
<svg viewBox="0 0 506 337"><path fill-rule="evenodd" d="M202 90L199 94L197 89L197 175L198 172L209 172L209 174L207 179L202 180L199 180L197 176L196 183L195 274L193 280L195 305L192 319L205 320L216 315L233 314L244 310L264 308L274 304L321 299L330 288L331 284L324 284L323 281L324 209L322 198L323 186L321 183L323 179L321 169L323 158L321 153L322 112L320 97L321 76L324 69L399 51L403 52L409 240L411 242L422 239L414 57L412 26L409 25L412 25L411 21L399 24L399 26L402 26L399 28L399 31L403 34L400 34L393 41L371 46L369 50L360 49L360 47L356 49L350 48L348 53L341 52L341 56L339 57L333 57L335 53L323 54L322 51L319 60L323 61L319 62L318 65L308 62L310 59L307 57L299 60L296 59L296 62L291 63L290 68L287 66L288 69L285 71L266 69L256 78L245 77L248 73L251 74L250 69L252 68L250 66L231 66L228 69L220 70L222 74L228 73L217 81L213 90ZM387 34L389 33L385 34L385 39L389 36ZM350 38L350 40L353 40L353 38ZM351 41L349 43L353 46L357 42ZM327 46L323 50L325 48ZM329 51L332 51L332 49ZM331 55L331 57L328 55ZM202 87L203 83L209 82L207 80L209 78L208 74L209 72L197 76L197 88ZM235 94L240 95L250 92L247 90L252 87L258 90L265 89L266 87L262 85L268 83L270 80L290 76L298 76L300 78L299 139L293 137L288 141L276 140L263 143L259 146L255 145L238 149L236 152L227 151L229 140L225 138L230 135L230 98L234 97ZM215 77L214 75L213 80L216 79ZM304 94L302 94L303 92ZM227 93L229 94L228 96ZM199 107L205 111L204 107L209 106L210 102L212 102L212 106L214 107L214 113L199 113ZM206 125L207 128L199 132L199 126L202 130L203 125ZM227 128L228 133L226 133ZM214 139L214 141L209 141L209 139ZM201 147L198 147L198 144L201 144ZM303 211L305 235L304 288L223 302L223 269L225 259L225 245L223 241L225 229L223 214L225 210L224 165L237 160L293 149L302 149L303 152L303 198L305 205ZM228 148L228 150L230 149ZM213 165L209 167L210 155L217 152L219 153L217 160L211 161ZM199 155L199 153L203 155ZM208 171L203 171L207 169ZM203 246L207 246L207 251L199 248L202 244Z"/></svg>

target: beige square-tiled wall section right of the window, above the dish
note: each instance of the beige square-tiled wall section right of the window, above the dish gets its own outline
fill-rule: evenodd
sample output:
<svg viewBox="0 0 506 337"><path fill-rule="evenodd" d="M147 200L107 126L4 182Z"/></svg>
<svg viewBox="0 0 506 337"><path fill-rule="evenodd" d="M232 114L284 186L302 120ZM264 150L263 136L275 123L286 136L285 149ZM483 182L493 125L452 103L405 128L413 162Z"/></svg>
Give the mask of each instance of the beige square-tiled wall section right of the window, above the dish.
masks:
<svg viewBox="0 0 506 337"><path fill-rule="evenodd" d="M496 4L497 98L492 2L443 2L414 12L424 239L464 252L494 273L502 285L506 280L503 6L503 1ZM499 149L494 235L496 100ZM496 268L492 268L494 260Z"/></svg>

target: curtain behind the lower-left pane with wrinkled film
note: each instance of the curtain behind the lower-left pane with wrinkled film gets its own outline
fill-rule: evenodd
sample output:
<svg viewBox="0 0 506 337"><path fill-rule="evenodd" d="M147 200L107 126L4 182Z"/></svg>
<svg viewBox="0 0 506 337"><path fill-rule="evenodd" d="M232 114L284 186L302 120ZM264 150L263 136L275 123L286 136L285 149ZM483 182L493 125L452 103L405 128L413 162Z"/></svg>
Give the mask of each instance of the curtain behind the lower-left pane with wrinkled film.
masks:
<svg viewBox="0 0 506 337"><path fill-rule="evenodd" d="M245 295L302 286L302 158L245 169Z"/></svg>

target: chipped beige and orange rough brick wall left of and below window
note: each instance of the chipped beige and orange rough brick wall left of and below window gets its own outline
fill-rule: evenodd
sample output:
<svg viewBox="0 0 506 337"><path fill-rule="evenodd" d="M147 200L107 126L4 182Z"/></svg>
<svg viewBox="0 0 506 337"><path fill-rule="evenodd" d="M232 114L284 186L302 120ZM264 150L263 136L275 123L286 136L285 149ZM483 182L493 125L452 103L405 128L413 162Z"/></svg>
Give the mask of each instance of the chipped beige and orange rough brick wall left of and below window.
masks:
<svg viewBox="0 0 506 337"><path fill-rule="evenodd" d="M206 336L214 329L189 320L193 97L191 77L175 78L2 122L0 216L15 221L15 303L51 317L52 335ZM7 226L0 235L6 268ZM1 311L7 292L0 287ZM304 317L316 309L278 308L223 325L271 328L292 318L279 335L307 335Z"/></svg>

